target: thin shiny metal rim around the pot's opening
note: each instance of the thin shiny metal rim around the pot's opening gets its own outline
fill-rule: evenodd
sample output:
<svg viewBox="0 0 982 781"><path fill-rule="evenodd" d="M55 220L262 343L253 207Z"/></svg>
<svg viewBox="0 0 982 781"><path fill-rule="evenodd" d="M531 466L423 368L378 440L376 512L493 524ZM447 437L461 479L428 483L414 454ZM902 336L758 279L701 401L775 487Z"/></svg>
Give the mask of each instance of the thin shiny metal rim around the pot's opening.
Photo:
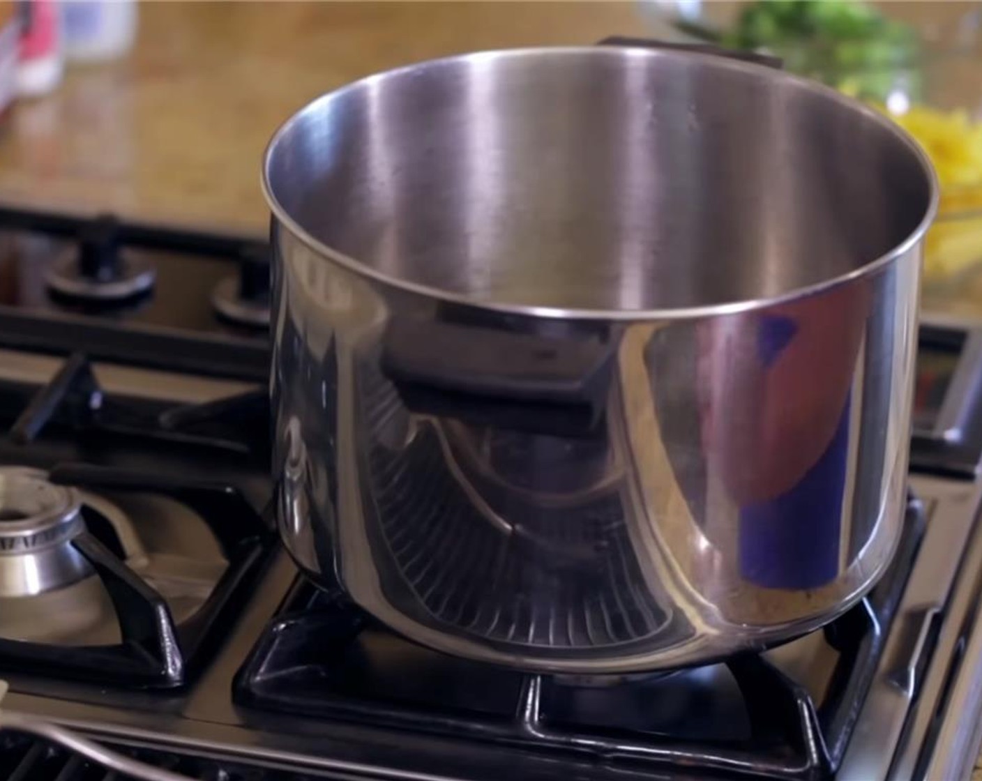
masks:
<svg viewBox="0 0 982 781"><path fill-rule="evenodd" d="M330 103L332 100L337 99L341 95L361 88L365 84L371 84L400 73L417 71L420 68L453 62L467 63L480 59L498 57L535 57L544 53L549 53L550 55L561 54L564 56L585 55L598 58L630 56L687 59L699 57L710 60L714 63L714 65L721 68L728 68L751 74L759 74L761 71L766 71L767 73L771 74L773 78L781 78L796 83L806 91L824 95L827 99L831 99L840 105L846 106L851 110L864 115L868 120L880 125L887 131L887 133L892 134L895 138L899 139L900 142L903 143L916 157L917 161L920 163L922 172L928 180L929 198L927 208L925 209L924 215L921 217L920 222L917 224L914 230L911 231L911 233L892 250L887 251L883 255L871 260L868 263L846 271L846 273L839 274L828 279L823 279L810 285L793 288L790 291L781 293L777 296L745 299L742 301L726 302L723 304L700 305L697 307L604 309L577 307L536 307L529 305L509 304L506 302L485 301L472 296L454 293L430 285L423 285L406 279L401 279L391 274L386 274L367 265L366 263L357 260L355 257L352 257L345 252L337 251L318 239L315 239L307 231L300 227L300 224L290 216L287 209L284 208L279 199L273 194L273 189L269 181L269 169L270 161L277 144L281 141L281 139L290 133L293 127L300 122L304 116L318 111L323 105ZM631 46L539 46L513 49L493 49L424 60L363 77L355 82L345 84L337 89L333 89L330 92L325 92L324 94L315 97L313 100L303 105L298 111L283 122L279 128L276 129L272 138L269 139L269 142L266 144L265 150L263 151L260 186L262 188L262 194L265 197L266 202L269 204L269 208L272 211L274 218L281 225L287 228L290 233L300 241L301 244L306 246L306 248L310 251L321 255L323 258L330 260L331 262L337 263L343 268L355 273L359 277L368 278L387 287L436 301L464 307L491 310L503 314L517 314L555 319L614 320L621 322L644 320L682 320L747 312L774 305L787 304L799 299L815 296L840 286L844 286L854 280L871 276L886 266L889 266L894 260L898 259L905 252L909 251L924 238L928 228L931 226L935 220L935 217L937 216L941 191L938 176L934 170L934 166L931 163L930 158L927 156L927 153L924 151L921 145L912 136L900 128L900 126L895 122L881 115L873 108L866 106L858 100L847 97L832 87L809 79L794 76L787 72L782 71L776 73L773 69L764 65L723 57L718 54L680 51L678 49L650 49Z"/></svg>

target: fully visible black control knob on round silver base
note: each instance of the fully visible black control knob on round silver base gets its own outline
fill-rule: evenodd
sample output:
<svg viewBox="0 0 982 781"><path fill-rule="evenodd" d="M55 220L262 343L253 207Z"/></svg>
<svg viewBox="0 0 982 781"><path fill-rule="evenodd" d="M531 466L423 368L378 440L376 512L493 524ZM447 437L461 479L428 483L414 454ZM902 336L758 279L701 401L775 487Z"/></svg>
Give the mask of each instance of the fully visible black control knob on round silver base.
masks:
<svg viewBox="0 0 982 781"><path fill-rule="evenodd" d="M83 223L78 252L54 260L46 275L51 291L65 298L99 304L130 301L148 293L156 269L120 250L120 223L100 216Z"/></svg>

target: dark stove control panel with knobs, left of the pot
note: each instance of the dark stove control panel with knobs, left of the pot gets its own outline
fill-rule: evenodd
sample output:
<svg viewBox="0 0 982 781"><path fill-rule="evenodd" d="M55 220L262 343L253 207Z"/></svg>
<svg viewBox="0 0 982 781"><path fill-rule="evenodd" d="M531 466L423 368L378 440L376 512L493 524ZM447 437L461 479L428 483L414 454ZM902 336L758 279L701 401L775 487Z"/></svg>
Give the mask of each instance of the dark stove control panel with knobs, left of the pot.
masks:
<svg viewBox="0 0 982 781"><path fill-rule="evenodd" d="M265 381L268 247L0 204L0 345Z"/></svg>

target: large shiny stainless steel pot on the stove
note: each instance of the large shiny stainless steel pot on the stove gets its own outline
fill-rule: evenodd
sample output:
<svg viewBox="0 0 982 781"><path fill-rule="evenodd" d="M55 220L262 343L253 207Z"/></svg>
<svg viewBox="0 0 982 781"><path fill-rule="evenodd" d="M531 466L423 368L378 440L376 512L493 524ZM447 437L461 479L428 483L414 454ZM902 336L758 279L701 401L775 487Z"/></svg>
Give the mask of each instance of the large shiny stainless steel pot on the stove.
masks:
<svg viewBox="0 0 982 781"><path fill-rule="evenodd" d="M263 184L283 539L392 629L651 670L883 573L937 195L876 112L709 54L471 54L316 99Z"/></svg>

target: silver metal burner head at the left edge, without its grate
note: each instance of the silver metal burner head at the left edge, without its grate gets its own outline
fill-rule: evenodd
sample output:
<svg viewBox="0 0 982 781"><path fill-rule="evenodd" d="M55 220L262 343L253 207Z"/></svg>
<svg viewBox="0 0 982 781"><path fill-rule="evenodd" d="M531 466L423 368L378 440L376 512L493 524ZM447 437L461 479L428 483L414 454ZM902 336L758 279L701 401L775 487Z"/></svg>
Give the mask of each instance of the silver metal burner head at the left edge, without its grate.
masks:
<svg viewBox="0 0 982 781"><path fill-rule="evenodd" d="M68 586L92 573L71 544L84 530L82 502L43 472L0 468L0 596Z"/></svg>

